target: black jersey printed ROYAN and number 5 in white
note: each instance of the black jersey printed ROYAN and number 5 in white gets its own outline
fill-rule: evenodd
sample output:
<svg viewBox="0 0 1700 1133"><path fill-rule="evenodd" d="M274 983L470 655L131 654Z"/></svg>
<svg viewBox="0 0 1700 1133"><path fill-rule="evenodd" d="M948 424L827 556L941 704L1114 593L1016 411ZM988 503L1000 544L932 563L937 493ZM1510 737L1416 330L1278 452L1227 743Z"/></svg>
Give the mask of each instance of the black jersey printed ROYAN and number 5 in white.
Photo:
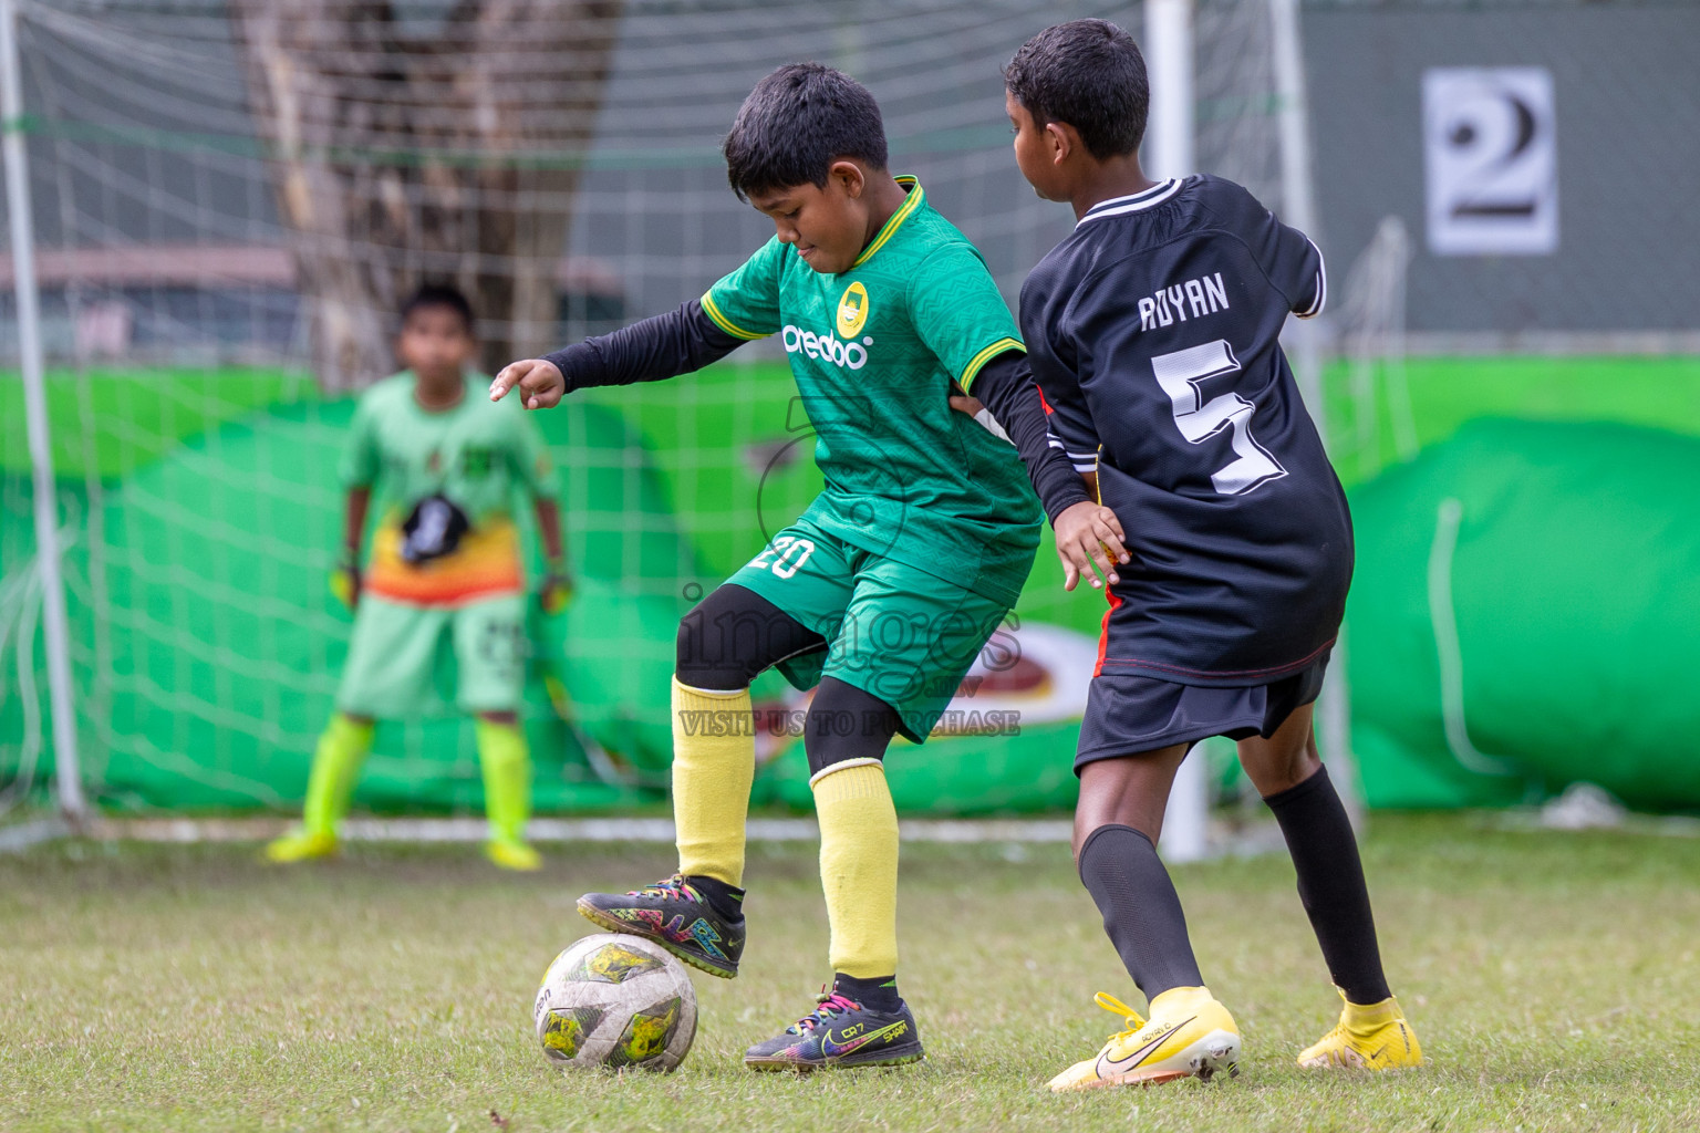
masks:
<svg viewBox="0 0 1700 1133"><path fill-rule="evenodd" d="M1352 516L1278 340L1324 299L1316 245L1219 177L1095 206L1028 275L1051 430L1134 555L1100 673L1261 685L1333 644Z"/></svg>

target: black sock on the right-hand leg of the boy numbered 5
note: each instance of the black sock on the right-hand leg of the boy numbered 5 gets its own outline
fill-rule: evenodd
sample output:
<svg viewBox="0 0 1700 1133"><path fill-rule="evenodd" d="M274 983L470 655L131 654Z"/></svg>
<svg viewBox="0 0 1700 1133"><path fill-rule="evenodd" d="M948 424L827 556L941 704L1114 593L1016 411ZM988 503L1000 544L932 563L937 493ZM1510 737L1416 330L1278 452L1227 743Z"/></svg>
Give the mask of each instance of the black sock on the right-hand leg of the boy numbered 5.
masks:
<svg viewBox="0 0 1700 1133"><path fill-rule="evenodd" d="M1292 868L1299 871L1299 900L1323 946L1328 973L1352 1002L1379 1004L1392 992L1380 967L1358 839L1328 768L1263 802L1287 839Z"/></svg>

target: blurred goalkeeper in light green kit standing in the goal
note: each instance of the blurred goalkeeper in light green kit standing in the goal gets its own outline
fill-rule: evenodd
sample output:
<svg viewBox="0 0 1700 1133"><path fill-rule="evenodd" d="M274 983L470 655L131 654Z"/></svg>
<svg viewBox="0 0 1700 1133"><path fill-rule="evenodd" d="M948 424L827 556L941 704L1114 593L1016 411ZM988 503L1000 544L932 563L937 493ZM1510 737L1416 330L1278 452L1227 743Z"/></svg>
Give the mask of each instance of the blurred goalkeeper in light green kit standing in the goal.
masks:
<svg viewBox="0 0 1700 1133"><path fill-rule="evenodd" d="M342 460L348 489L342 559L332 588L354 612L337 712L320 737L301 826L267 846L279 863L337 853L372 724L416 715L447 634L457 702L478 717L490 841L507 870L536 870L525 844L530 756L518 727L525 574L513 489L537 510L549 572L544 610L571 596L549 450L517 404L491 404L490 379L469 375L478 348L473 307L454 287L420 287L401 309L396 357L406 369L360 397ZM360 544L374 488L379 521L362 572Z"/></svg>

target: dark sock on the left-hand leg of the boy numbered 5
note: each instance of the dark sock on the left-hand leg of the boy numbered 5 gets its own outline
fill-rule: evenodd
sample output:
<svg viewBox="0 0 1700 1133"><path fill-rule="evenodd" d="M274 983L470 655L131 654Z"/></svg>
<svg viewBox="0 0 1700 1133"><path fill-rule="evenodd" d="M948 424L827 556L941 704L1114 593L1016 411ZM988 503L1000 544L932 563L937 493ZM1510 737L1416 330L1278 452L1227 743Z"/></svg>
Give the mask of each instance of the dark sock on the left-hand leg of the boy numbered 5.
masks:
<svg viewBox="0 0 1700 1133"><path fill-rule="evenodd" d="M1146 999L1173 987L1204 987L1187 914L1149 837L1130 826L1100 826L1080 848L1080 880Z"/></svg>

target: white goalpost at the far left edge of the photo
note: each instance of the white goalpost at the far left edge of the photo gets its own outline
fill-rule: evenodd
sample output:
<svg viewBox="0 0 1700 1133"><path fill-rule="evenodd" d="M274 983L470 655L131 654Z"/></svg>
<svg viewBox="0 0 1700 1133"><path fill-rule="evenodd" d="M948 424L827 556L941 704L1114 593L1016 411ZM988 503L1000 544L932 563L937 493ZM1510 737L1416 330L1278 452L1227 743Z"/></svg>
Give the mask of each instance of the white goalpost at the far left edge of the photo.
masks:
<svg viewBox="0 0 1700 1133"><path fill-rule="evenodd" d="M76 761L76 708L71 703L70 627L60 578L60 508L42 389L41 302L36 292L36 241L31 231L29 165L24 144L24 88L19 75L17 5L0 0L0 151L12 219L12 279L17 294L17 345L24 372L29 462L36 472L36 569L41 574L42 635L48 644L48 695L53 717L53 768L60 810L73 824L88 812Z"/></svg>

